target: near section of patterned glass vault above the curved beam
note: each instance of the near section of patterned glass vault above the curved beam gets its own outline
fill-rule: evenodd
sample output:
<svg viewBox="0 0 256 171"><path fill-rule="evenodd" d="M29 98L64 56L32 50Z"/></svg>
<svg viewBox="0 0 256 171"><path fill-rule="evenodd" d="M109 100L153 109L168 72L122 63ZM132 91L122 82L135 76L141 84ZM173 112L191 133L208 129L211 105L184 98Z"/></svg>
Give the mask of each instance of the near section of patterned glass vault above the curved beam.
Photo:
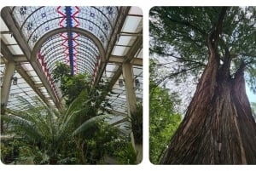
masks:
<svg viewBox="0 0 256 171"><path fill-rule="evenodd" d="M58 28L81 28L95 35L107 47L118 16L118 7L14 7L20 31L33 48L40 37Z"/></svg>

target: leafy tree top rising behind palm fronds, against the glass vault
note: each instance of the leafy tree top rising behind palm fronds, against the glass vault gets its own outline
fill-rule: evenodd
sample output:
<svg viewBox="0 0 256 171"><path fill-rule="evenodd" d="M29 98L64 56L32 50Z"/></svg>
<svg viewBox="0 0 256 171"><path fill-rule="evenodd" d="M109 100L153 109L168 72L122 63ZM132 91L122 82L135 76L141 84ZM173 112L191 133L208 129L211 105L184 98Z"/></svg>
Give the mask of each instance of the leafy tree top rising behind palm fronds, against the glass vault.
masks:
<svg viewBox="0 0 256 171"><path fill-rule="evenodd" d="M59 80L61 81L61 93L67 105L70 105L83 92L85 98L90 99L90 103L95 105L94 108L105 109L110 107L107 102L104 102L106 101L106 95L111 93L111 88L107 82L102 81L92 86L90 83L91 77L88 74L71 76L69 66L62 63L56 63L53 77L56 83Z"/></svg>

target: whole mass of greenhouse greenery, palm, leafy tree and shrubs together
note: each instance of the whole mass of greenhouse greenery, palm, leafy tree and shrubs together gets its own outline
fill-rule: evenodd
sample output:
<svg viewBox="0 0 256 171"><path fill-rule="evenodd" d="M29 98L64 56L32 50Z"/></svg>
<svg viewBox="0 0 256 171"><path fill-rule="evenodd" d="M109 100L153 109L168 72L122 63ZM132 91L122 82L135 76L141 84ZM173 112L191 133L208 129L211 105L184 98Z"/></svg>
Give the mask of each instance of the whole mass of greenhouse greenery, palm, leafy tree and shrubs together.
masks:
<svg viewBox="0 0 256 171"><path fill-rule="evenodd" d="M105 156L119 157L116 151L127 149L128 138L104 121L111 109L106 100L111 94L108 83L91 87L90 77L71 76L69 68L61 63L57 64L54 77L55 82L61 80L67 109L57 111L36 99L37 106L7 110L8 114L2 117L9 123L6 133L21 137L19 162L96 164L102 163ZM8 147L3 149L8 156Z"/></svg>

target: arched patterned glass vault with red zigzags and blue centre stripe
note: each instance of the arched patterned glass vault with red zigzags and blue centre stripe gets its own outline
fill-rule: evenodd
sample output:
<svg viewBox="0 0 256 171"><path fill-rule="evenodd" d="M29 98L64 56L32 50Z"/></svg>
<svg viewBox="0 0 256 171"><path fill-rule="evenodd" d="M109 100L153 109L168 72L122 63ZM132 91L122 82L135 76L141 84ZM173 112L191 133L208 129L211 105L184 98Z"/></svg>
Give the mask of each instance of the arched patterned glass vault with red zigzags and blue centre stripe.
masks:
<svg viewBox="0 0 256 171"><path fill-rule="evenodd" d="M38 44L38 52L35 53L51 87L60 93L50 74L55 69L56 61L71 66L72 74L86 72L94 76L101 60L99 44L73 28L87 31L98 39L103 48L107 48L118 11L118 7L107 6L21 6L14 7L12 14L32 50L40 38L46 37L42 44ZM48 35L50 31L60 29L57 34Z"/></svg>

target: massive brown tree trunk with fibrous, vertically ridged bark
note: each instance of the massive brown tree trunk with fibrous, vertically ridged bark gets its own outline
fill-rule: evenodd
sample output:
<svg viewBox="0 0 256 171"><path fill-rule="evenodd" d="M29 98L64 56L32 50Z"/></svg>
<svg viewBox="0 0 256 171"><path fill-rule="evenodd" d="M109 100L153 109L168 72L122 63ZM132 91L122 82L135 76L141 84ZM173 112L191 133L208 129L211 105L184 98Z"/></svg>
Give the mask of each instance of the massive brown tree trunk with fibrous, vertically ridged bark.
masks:
<svg viewBox="0 0 256 171"><path fill-rule="evenodd" d="M256 123L247 99L244 63L230 76L228 48L219 64L224 10L209 33L209 60L188 111L161 164L256 164Z"/></svg>

